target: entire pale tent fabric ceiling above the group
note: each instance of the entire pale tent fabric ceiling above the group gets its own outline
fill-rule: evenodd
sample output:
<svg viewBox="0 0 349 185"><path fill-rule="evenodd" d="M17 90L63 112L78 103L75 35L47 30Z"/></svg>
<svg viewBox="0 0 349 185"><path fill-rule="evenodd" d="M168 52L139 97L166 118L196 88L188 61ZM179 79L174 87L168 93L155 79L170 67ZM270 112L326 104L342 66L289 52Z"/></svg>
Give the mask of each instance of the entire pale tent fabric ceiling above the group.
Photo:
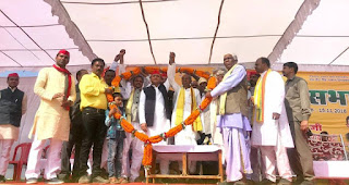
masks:
<svg viewBox="0 0 349 185"><path fill-rule="evenodd" d="M3 0L0 71L49 66L61 48L75 69L96 57L110 63L120 49L127 49L128 64L155 64L149 40L157 64L166 64L170 51L179 64L203 65L233 52L241 63L268 57L278 67L296 61L306 71L348 69L337 67L349 59L346 0L143 0L144 17L140 2Z"/></svg>

